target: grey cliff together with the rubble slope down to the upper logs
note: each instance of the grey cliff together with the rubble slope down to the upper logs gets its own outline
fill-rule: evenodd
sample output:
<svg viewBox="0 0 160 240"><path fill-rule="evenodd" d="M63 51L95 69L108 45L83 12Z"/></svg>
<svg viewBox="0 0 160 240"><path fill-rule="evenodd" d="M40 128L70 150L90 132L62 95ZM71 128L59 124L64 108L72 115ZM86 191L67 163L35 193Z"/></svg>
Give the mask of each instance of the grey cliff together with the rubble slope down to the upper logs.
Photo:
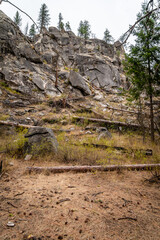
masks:
<svg viewBox="0 0 160 240"><path fill-rule="evenodd" d="M82 103L74 101L80 98L86 99L83 108L98 109L100 118L137 123L135 107L128 107L125 98L117 95L119 88L128 87L123 58L119 42L111 45L99 39L84 40L55 27L43 29L31 40L0 11L1 120L39 124L52 111L48 105L55 106L57 98L61 105L72 100L76 109L81 109ZM33 106L46 102L44 112Z"/></svg>

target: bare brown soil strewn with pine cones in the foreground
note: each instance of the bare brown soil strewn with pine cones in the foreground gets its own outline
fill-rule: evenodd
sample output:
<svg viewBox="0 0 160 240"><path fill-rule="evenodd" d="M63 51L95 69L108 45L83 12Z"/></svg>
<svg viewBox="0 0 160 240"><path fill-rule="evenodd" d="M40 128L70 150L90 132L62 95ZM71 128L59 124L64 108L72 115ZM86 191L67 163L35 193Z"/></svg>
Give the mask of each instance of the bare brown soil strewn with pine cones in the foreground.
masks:
<svg viewBox="0 0 160 240"><path fill-rule="evenodd" d="M149 172L28 175L31 161L13 163L0 179L1 240L160 239L160 185L145 181Z"/></svg>

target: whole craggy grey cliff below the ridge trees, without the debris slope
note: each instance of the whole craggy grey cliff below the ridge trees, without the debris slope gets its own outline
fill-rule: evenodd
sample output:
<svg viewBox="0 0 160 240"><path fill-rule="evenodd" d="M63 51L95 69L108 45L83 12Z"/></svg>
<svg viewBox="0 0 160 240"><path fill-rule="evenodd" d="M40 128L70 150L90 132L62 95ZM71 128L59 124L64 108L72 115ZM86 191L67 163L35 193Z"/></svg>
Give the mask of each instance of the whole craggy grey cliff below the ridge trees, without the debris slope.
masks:
<svg viewBox="0 0 160 240"><path fill-rule="evenodd" d="M10 95L17 99L22 95L31 102L62 93L90 95L95 88L111 91L125 85L122 47L84 40L55 27L43 29L33 41L2 11L0 52L0 93L5 90L8 101Z"/></svg>

